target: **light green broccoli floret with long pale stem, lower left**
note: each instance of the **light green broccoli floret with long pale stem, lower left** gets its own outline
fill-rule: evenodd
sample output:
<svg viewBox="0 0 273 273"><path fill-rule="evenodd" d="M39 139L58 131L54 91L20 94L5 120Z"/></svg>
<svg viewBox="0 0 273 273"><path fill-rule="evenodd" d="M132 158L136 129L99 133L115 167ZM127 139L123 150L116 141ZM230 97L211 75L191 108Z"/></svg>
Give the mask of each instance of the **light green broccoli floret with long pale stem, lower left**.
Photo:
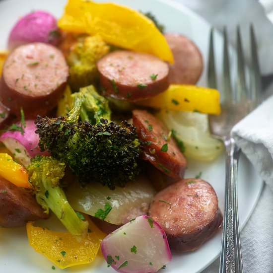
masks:
<svg viewBox="0 0 273 273"><path fill-rule="evenodd" d="M69 205L59 185L65 175L65 163L51 157L36 155L27 166L29 181L36 190L36 200L47 213L51 209L73 235L84 236L88 222L81 220Z"/></svg>

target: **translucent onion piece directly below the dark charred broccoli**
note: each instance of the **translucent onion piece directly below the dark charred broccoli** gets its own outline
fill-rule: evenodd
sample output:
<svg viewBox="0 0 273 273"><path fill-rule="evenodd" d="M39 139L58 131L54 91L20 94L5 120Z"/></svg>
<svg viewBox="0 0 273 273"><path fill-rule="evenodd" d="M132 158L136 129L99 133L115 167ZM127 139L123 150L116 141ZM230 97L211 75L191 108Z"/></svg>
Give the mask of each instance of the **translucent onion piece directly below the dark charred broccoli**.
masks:
<svg viewBox="0 0 273 273"><path fill-rule="evenodd" d="M133 182L128 182L124 188L116 187L110 190L107 186L91 182L81 187L78 182L69 185L66 192L69 204L77 211L95 216L105 204L112 206L105 221L121 225L145 214L155 190L144 175L140 175Z"/></svg>

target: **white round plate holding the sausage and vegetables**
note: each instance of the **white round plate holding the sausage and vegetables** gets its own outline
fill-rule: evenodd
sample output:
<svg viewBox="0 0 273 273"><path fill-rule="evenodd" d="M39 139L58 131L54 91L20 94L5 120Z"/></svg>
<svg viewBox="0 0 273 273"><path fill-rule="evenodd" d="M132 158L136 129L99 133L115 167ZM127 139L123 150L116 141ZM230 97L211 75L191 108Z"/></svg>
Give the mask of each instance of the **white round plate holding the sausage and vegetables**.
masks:
<svg viewBox="0 0 273 273"><path fill-rule="evenodd" d="M152 11L166 26L166 31L177 31L190 37L199 46L206 64L207 41L209 24L201 17L170 0L116 0L116 2L130 5L141 11ZM10 28L22 15L36 9L43 9L60 16L63 12L65 0L4 0L0 2L0 49L6 47L6 40ZM221 37L217 36L217 43ZM216 47L217 48L217 47ZM220 52L216 52L218 57ZM219 58L217 58L219 60ZM205 71L199 84L205 85ZM224 204L224 155L211 163L189 160L185 177L195 177L202 172L202 178L214 187L219 206L223 211ZM249 219L262 190L263 182L254 170L251 163L242 156L238 173L238 197L240 226L244 227ZM165 273L198 273L212 263L220 252L221 232L209 239L200 249L191 253L172 253L173 260L167 265ZM28 246L25 228L0 229L0 272L11 273L47 273L47 272L72 272L72 273L111 273L106 262L100 259L92 265L80 266L64 271L56 267L42 255L37 254Z"/></svg>

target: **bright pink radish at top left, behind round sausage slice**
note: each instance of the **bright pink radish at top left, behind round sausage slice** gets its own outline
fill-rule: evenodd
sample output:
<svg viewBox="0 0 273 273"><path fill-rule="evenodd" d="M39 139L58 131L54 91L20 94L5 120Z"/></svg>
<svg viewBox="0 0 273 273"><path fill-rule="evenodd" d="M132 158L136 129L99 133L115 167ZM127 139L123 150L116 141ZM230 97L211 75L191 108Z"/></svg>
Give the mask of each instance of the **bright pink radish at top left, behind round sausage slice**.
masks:
<svg viewBox="0 0 273 273"><path fill-rule="evenodd" d="M12 28L8 38L8 49L32 42L57 45L60 33L56 18L46 11L34 11L23 16Z"/></svg>

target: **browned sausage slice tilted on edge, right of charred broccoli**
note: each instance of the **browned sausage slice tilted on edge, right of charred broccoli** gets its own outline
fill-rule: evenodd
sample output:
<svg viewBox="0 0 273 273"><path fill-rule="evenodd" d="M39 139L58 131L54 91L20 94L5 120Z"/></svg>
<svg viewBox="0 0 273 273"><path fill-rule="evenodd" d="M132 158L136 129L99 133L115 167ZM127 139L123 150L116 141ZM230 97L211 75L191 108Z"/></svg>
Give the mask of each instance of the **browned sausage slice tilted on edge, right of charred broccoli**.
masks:
<svg viewBox="0 0 273 273"><path fill-rule="evenodd" d="M143 159L170 177L183 178L186 159L163 123L147 111L136 109L133 124L143 142Z"/></svg>

